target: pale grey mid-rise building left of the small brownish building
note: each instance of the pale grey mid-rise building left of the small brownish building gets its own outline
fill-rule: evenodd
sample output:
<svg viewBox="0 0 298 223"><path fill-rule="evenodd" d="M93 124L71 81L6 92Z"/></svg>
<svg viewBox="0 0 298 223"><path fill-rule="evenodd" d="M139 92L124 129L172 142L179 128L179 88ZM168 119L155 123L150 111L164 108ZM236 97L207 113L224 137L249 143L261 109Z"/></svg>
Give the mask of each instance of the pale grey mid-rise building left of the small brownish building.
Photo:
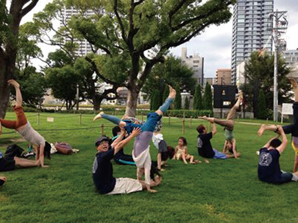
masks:
<svg viewBox="0 0 298 223"><path fill-rule="evenodd" d="M193 56L189 55L187 57L187 48L182 47L181 61L194 71L193 78L195 78L196 83L200 83L201 86L203 86L204 58L200 57L198 53L194 53Z"/></svg>

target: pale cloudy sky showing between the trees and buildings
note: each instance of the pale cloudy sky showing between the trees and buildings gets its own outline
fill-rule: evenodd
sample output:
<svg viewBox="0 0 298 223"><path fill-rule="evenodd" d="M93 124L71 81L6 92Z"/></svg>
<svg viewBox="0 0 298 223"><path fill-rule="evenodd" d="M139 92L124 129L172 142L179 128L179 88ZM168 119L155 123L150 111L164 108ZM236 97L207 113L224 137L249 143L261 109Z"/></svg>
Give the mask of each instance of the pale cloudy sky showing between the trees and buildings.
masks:
<svg viewBox="0 0 298 223"><path fill-rule="evenodd" d="M51 0L39 0L36 7L28 13L22 23L32 21L34 13L41 11ZM289 26L283 38L287 41L287 49L298 48L298 1L274 0L274 10L288 11ZM231 43L232 21L220 26L211 26L201 35L189 42L171 49L174 55L180 56L181 47L187 47L188 55L199 53L205 58L205 77L214 77L218 68L231 67ZM44 55L48 53L48 47L42 47ZM34 61L33 65L42 65L40 61Z"/></svg>

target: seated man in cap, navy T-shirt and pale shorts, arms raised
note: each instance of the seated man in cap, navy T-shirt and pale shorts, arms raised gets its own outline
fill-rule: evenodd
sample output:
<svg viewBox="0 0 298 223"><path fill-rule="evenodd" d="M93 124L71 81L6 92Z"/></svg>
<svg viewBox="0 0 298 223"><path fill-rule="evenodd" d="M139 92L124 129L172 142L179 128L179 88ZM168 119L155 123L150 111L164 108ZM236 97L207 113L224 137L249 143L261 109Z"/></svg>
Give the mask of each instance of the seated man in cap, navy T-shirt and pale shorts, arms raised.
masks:
<svg viewBox="0 0 298 223"><path fill-rule="evenodd" d="M111 145L109 145L109 139L105 136L96 139L95 149L98 152L95 156L92 173L93 182L98 192L109 195L129 194L147 188L144 181L131 178L114 178L113 165L111 163L114 155L140 133L141 130L136 128L126 139L122 140L126 132L124 129L121 129L121 134ZM158 186L160 183L161 178L156 177L150 186Z"/></svg>

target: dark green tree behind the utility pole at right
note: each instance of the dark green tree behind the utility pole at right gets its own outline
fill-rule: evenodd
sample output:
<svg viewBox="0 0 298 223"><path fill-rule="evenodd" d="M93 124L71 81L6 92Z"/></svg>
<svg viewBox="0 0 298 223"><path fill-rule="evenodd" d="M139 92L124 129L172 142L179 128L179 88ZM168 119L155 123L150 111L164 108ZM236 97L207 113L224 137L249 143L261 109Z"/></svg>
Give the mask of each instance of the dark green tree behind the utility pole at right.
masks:
<svg viewBox="0 0 298 223"><path fill-rule="evenodd" d="M286 75L289 73L283 59L278 57L278 102L286 103L291 101L291 85ZM244 77L246 84L241 88L245 94L245 101L253 107L255 117L258 117L259 89L263 89L266 104L273 109L273 76L274 76L274 55L270 53L252 52L250 60L245 63Z"/></svg>

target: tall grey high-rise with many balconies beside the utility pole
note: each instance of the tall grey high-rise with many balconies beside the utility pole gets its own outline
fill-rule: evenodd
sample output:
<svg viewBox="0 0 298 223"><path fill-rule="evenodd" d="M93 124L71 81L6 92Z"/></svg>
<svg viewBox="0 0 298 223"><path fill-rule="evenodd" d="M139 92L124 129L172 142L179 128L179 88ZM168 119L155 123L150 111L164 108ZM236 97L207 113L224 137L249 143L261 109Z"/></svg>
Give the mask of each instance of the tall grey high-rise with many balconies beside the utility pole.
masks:
<svg viewBox="0 0 298 223"><path fill-rule="evenodd" d="M232 84L236 84L237 65L249 59L252 51L272 51L272 12L273 0L237 0L233 8Z"/></svg>

